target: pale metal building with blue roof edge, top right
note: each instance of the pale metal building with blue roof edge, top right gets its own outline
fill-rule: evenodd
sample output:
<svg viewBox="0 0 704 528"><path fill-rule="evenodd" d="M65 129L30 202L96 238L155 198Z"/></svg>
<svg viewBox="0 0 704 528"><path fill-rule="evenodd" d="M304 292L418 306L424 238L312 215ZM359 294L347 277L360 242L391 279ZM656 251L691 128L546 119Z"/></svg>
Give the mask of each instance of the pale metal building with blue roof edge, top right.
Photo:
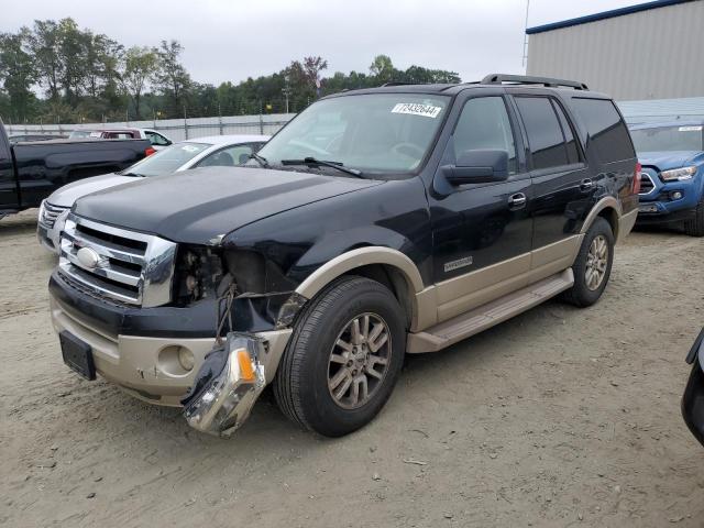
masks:
<svg viewBox="0 0 704 528"><path fill-rule="evenodd" d="M616 100L704 96L704 0L659 0L530 28L527 75Z"/></svg>

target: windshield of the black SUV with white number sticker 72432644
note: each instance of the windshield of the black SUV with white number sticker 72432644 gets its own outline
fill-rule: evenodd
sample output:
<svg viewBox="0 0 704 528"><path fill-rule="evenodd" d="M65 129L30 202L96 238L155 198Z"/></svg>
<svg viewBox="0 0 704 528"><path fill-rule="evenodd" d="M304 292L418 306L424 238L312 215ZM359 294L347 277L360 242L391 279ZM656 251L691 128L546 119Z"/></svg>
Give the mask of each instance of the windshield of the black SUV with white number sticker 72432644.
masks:
<svg viewBox="0 0 704 528"><path fill-rule="evenodd" d="M301 112L258 154L271 165L314 157L365 174L410 173L430 150L448 103L446 96L408 94L323 99Z"/></svg>

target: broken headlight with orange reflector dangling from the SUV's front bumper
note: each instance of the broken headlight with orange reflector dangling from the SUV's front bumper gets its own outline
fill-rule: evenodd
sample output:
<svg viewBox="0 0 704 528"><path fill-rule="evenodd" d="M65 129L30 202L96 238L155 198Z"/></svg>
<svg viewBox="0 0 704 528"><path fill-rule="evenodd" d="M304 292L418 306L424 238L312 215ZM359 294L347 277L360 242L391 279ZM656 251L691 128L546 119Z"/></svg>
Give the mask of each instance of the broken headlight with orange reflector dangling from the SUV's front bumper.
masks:
<svg viewBox="0 0 704 528"><path fill-rule="evenodd" d="M266 385L264 353L262 338L228 333L226 342L206 355L182 400L188 425L224 438L242 426Z"/></svg>

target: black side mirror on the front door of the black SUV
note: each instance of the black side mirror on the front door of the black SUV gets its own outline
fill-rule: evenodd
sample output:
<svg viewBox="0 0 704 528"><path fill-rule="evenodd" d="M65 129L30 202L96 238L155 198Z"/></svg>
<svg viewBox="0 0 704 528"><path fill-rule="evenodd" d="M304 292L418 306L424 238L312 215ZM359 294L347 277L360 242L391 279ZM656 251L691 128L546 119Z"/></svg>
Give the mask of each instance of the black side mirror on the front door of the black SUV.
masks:
<svg viewBox="0 0 704 528"><path fill-rule="evenodd" d="M455 165L443 165L451 185L490 184L508 178L508 152L496 148L464 151Z"/></svg>

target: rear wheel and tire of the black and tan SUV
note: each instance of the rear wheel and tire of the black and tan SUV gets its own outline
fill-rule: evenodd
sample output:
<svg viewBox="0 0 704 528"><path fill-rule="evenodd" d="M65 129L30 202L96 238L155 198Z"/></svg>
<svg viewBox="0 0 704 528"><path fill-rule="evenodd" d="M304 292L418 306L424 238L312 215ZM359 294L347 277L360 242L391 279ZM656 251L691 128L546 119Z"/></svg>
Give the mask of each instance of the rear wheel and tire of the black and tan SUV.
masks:
<svg viewBox="0 0 704 528"><path fill-rule="evenodd" d="M571 305L584 308L592 306L600 299L612 274L614 242L614 232L609 223L604 218L596 218L584 235L580 252L574 260L574 264L572 264L574 285L563 294L564 300ZM602 244L605 244L605 254L600 251ZM597 262L595 265L591 265L590 263L595 261L595 250ZM594 276L595 266L597 270L601 270L601 278L595 278ZM591 272L588 277L587 270Z"/></svg>

